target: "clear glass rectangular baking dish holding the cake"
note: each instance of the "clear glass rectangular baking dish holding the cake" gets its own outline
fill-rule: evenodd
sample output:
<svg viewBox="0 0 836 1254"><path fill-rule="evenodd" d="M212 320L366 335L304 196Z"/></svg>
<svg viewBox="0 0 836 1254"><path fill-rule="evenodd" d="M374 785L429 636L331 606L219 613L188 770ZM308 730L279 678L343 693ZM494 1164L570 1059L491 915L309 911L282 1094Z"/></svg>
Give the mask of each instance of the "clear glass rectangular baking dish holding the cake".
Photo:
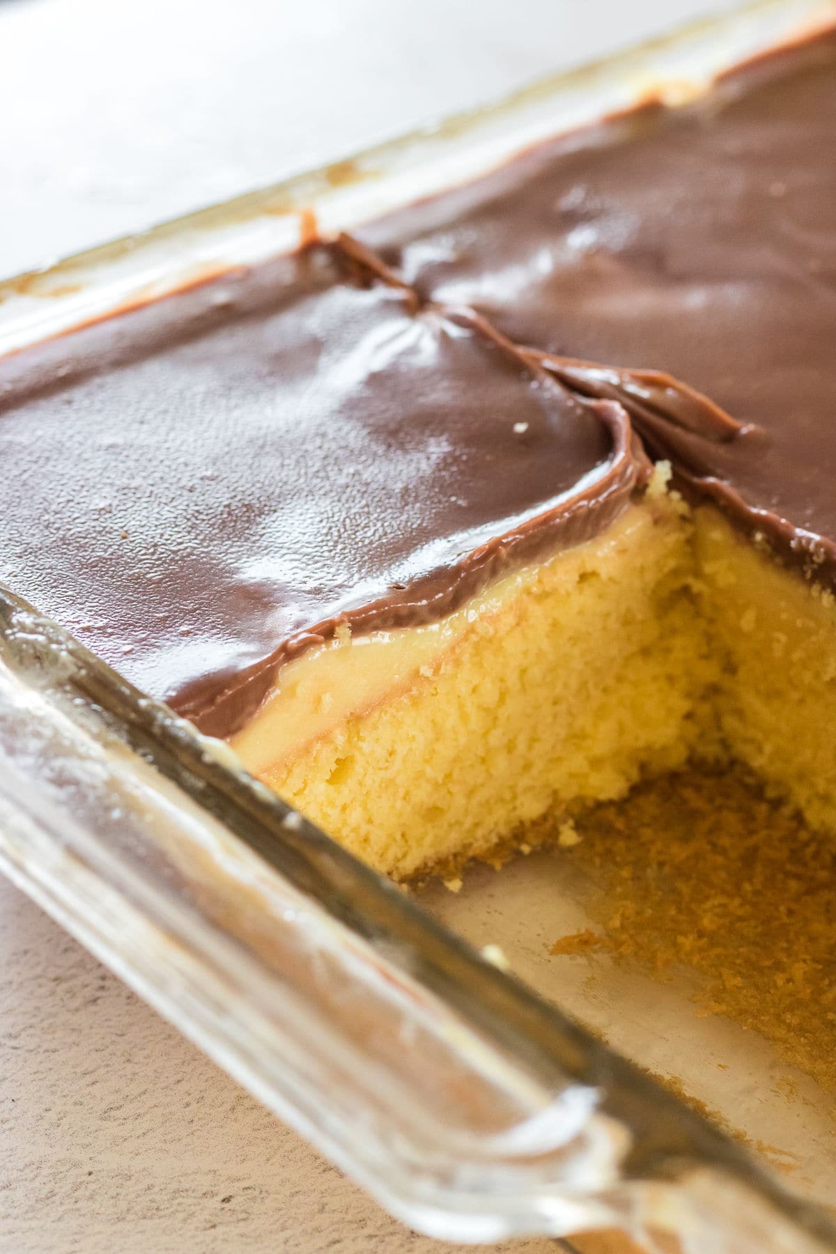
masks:
<svg viewBox="0 0 836 1254"><path fill-rule="evenodd" d="M648 94L676 104L835 20L833 4L750 5L9 280L0 351L291 250L315 223L351 229ZM686 974L555 962L548 940L580 933L588 904L559 849L417 904L1 587L0 867L412 1228L836 1250L832 1100L766 1041L701 1018Z"/></svg>

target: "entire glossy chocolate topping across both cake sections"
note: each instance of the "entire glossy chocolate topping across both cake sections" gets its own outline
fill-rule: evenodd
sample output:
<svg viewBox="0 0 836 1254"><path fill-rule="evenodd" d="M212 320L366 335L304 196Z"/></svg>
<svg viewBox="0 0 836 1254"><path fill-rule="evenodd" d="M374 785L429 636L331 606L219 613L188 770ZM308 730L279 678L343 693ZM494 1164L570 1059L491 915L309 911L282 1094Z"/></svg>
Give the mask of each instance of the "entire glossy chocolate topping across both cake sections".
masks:
<svg viewBox="0 0 836 1254"><path fill-rule="evenodd" d="M214 735L600 533L644 446L835 584L833 150L830 36L4 359L0 578Z"/></svg>

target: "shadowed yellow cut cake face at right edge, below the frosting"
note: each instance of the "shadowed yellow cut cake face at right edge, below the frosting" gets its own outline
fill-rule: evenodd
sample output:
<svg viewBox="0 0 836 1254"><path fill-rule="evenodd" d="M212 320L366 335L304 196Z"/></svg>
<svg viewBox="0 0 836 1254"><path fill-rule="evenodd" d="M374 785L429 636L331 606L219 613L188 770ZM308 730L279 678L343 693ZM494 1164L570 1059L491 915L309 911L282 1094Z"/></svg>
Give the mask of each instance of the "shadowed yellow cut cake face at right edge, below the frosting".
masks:
<svg viewBox="0 0 836 1254"><path fill-rule="evenodd" d="M812 828L836 831L836 601L717 510L694 520L702 612L722 662L707 698L727 752Z"/></svg>

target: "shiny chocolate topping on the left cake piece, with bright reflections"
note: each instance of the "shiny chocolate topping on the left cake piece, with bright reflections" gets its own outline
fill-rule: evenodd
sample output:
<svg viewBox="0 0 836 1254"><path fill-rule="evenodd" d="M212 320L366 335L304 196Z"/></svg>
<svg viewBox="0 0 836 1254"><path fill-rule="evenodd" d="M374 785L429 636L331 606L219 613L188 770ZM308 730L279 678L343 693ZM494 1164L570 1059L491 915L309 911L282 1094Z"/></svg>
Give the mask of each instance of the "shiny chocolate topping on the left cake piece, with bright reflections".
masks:
<svg viewBox="0 0 836 1254"><path fill-rule="evenodd" d="M338 245L6 357L0 465L0 578L214 735L340 624L437 619L648 470L622 406Z"/></svg>

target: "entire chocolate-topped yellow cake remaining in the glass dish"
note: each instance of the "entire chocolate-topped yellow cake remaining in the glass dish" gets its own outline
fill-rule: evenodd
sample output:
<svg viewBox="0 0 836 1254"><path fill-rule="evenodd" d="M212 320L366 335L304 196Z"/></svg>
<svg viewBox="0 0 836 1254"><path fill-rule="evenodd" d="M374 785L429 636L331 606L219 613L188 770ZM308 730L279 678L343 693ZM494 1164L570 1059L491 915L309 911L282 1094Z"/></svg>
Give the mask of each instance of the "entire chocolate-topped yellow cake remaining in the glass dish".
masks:
<svg viewBox="0 0 836 1254"><path fill-rule="evenodd" d="M836 41L0 361L0 578L377 869L836 828Z"/></svg>

